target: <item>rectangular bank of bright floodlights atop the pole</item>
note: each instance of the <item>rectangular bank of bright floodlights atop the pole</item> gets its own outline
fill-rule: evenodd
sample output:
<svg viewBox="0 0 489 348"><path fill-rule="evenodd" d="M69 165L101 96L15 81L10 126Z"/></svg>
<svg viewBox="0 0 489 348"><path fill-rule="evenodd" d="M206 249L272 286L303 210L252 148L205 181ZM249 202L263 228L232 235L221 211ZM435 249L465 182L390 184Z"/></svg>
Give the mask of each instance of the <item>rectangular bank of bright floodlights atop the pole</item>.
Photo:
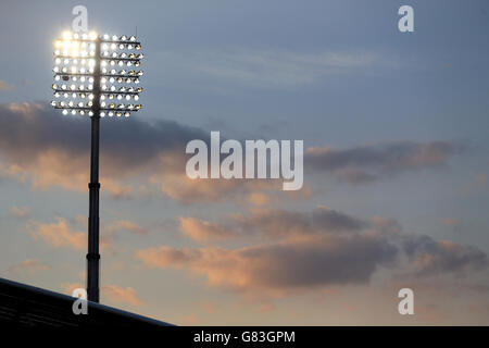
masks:
<svg viewBox="0 0 489 348"><path fill-rule="evenodd" d="M129 116L141 109L141 44L130 36L65 32L54 42L54 97L63 114Z"/></svg>

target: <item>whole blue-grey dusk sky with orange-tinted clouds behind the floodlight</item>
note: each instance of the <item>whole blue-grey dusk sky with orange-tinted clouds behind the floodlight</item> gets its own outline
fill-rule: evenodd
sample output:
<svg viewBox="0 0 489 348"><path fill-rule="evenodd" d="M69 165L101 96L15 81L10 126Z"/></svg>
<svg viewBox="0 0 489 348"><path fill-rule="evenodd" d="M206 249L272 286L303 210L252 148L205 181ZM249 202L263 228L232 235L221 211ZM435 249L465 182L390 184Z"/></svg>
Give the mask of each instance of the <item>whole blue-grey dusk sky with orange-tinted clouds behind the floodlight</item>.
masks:
<svg viewBox="0 0 489 348"><path fill-rule="evenodd" d="M481 0L2 1L1 277L85 284L90 124L49 105L78 4L145 53L143 109L101 122L102 303L181 325L489 324ZM211 130L303 140L303 188L189 179Z"/></svg>

